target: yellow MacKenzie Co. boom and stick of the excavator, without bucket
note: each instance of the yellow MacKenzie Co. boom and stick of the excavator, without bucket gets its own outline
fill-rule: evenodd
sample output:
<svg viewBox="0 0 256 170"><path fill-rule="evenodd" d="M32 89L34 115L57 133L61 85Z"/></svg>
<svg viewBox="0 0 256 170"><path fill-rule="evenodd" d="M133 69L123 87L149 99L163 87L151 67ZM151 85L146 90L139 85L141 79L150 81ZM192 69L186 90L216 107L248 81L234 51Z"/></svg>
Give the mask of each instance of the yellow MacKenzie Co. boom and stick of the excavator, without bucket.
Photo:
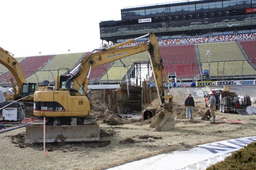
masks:
<svg viewBox="0 0 256 170"><path fill-rule="evenodd" d="M158 97L160 99L160 105L162 105L165 100L165 98L163 98L164 91L163 91L162 73L165 75L166 82L168 82L168 79L166 77L166 73L162 63L162 58L159 53L158 40L155 34L149 33L145 36L150 36L150 39L147 43L142 43L138 46L133 46L133 47L118 48L128 43L134 43L134 39L130 39L128 41L125 41L124 43L112 46L110 48L106 48L101 52L92 53L87 57L85 57L81 61L81 64L78 68L77 73L72 78L70 78L70 81L73 81L72 89L75 89L78 91L81 88L81 85L84 83L83 89L84 91L86 91L89 83L88 75L90 74L90 71L93 70L94 68L147 50L150 55L150 63L152 66L153 75L156 82Z"/></svg>

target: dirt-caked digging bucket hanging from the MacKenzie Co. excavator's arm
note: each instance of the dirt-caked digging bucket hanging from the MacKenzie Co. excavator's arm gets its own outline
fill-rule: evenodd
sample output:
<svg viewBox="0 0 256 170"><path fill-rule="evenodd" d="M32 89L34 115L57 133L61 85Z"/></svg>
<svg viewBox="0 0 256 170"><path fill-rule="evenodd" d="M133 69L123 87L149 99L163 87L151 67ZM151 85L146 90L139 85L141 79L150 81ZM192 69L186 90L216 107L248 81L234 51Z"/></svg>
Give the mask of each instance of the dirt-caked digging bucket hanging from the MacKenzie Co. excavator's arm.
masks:
<svg viewBox="0 0 256 170"><path fill-rule="evenodd" d="M168 131L174 128L175 119L173 119L172 114L168 113L166 109L161 109L161 112L157 116L156 120L150 124L147 128L149 131Z"/></svg>

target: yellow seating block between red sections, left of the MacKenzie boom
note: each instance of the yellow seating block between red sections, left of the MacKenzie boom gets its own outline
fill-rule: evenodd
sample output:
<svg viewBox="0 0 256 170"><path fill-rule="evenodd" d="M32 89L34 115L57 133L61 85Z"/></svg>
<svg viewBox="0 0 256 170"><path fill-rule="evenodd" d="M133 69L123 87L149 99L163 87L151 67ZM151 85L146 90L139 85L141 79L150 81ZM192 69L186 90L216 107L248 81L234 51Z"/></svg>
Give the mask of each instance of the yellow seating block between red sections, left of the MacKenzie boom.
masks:
<svg viewBox="0 0 256 170"><path fill-rule="evenodd" d="M41 83L43 80L48 80L48 70L49 72L49 82L54 82L56 76L58 75L59 68L68 68L69 71L76 65L85 53L68 53L68 54L58 54L55 55L51 63L46 64L40 71L29 76L26 80L27 82L38 82ZM59 74L64 74L67 71L64 69L59 70Z"/></svg>

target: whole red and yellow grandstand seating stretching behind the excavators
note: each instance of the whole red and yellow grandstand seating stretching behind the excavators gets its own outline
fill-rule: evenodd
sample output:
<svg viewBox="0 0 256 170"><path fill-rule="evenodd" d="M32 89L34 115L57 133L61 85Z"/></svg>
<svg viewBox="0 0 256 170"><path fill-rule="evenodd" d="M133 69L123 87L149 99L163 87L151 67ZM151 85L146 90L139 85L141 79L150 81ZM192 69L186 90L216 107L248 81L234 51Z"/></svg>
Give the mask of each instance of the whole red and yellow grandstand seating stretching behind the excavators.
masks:
<svg viewBox="0 0 256 170"><path fill-rule="evenodd" d="M159 40L159 50L166 73L169 77L175 77L176 81L200 80L201 71L209 69L209 61L211 80L252 79L256 76L255 39L255 33L238 34L237 36L229 34L201 38L161 39ZM143 42L145 41L137 41L135 45ZM131 46L134 44L130 43L123 47ZM211 52L210 58L205 55L208 50ZM15 59L19 62L28 82L41 83L43 80L48 80L49 73L49 82L54 83L59 68L71 70L90 53L68 53ZM148 57L148 53L145 51L123 58L122 61L128 66L128 74L130 76L133 74L132 76L135 78L132 71L138 72L137 66L149 63ZM145 68L147 69L147 67ZM4 66L0 66L0 71L3 74L0 76L1 85L10 85L8 70ZM150 72L150 70L146 72ZM66 70L59 72L59 74L64 73ZM120 61L106 63L91 71L90 84L123 82L126 80L126 73L127 67L124 68ZM137 74L136 79L143 78L139 78Z"/></svg>

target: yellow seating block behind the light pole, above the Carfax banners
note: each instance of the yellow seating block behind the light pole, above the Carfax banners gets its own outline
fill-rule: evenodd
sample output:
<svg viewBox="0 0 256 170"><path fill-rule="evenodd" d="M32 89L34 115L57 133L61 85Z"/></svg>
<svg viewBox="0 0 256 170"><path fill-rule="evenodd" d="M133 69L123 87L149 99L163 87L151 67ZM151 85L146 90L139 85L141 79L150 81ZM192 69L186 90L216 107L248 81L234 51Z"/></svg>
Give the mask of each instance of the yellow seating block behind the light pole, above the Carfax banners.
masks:
<svg viewBox="0 0 256 170"><path fill-rule="evenodd" d="M202 70L209 69L211 77L237 77L241 74L256 74L255 70L240 51L236 42L229 43L209 43L198 45ZM206 55L210 50L211 55ZM242 70L243 68L243 70Z"/></svg>

